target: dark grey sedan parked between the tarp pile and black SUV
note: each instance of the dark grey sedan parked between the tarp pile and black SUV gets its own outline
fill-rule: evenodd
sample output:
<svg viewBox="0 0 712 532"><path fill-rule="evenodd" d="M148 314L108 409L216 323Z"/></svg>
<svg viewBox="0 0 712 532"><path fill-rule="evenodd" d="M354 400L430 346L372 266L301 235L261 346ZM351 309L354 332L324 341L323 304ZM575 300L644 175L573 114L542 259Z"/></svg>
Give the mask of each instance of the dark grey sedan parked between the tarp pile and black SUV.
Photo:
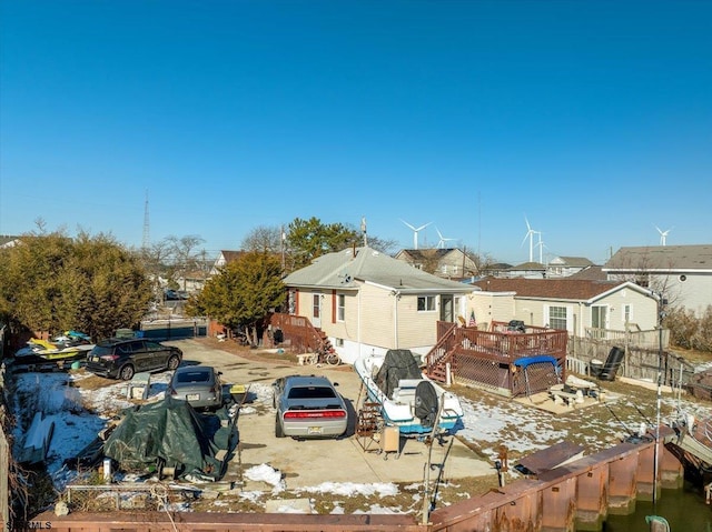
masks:
<svg viewBox="0 0 712 532"><path fill-rule="evenodd" d="M219 409L222 405L221 374L210 365L178 368L168 383L168 393L188 401L196 409Z"/></svg>

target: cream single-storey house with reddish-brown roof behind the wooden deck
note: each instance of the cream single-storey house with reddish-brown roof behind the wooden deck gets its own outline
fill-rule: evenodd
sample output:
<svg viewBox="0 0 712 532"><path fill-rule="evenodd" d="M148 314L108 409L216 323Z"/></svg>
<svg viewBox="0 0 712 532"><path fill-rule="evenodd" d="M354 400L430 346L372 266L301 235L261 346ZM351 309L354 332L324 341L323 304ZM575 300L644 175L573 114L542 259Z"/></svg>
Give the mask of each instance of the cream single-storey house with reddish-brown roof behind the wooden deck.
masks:
<svg viewBox="0 0 712 532"><path fill-rule="evenodd" d="M585 337L586 329L654 329L657 301L627 281L576 279L494 279L475 282L473 310L479 324L521 320Z"/></svg>

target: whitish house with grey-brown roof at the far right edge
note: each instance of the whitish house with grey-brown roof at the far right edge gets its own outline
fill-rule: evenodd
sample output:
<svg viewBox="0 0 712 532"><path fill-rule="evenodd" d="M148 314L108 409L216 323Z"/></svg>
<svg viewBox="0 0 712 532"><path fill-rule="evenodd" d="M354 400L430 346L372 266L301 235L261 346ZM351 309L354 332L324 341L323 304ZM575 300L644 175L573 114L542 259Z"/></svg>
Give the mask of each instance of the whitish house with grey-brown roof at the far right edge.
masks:
<svg viewBox="0 0 712 532"><path fill-rule="evenodd" d="M660 292L698 317L712 304L712 244L621 248L603 272Z"/></svg>

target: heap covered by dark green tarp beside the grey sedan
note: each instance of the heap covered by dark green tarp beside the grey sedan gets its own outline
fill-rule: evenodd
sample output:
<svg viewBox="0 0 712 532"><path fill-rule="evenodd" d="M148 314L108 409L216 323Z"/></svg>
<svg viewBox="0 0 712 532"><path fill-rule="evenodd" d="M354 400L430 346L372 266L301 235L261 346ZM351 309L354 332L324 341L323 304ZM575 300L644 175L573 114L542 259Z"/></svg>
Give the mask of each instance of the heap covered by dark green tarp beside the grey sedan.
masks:
<svg viewBox="0 0 712 532"><path fill-rule="evenodd" d="M103 454L126 471L169 466L177 476L219 480L236 445L237 428L226 409L200 414L168 395L128 410L107 439Z"/></svg>

